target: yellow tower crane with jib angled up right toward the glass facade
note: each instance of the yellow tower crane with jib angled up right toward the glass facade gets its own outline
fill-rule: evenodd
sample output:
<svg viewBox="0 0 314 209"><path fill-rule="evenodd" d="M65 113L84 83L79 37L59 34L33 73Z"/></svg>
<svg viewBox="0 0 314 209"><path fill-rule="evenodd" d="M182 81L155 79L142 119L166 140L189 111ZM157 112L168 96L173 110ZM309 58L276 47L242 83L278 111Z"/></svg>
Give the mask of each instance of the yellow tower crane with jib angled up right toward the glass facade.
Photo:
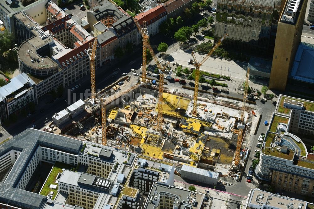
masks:
<svg viewBox="0 0 314 209"><path fill-rule="evenodd" d="M193 111L192 111L193 116L197 116L198 79L199 79L199 73L200 73L199 67L201 67L204 64L204 62L208 59L208 57L213 54L213 52L218 48L218 46L220 46L221 42L227 36L228 36L228 34L225 34L224 37L222 37L217 42L217 44L208 52L208 54L204 57L204 59L201 62L197 61L196 56L195 56L194 52L192 51L190 62L192 62L191 64L196 67L196 69L195 69L194 97L193 97L194 101L193 101Z"/></svg>

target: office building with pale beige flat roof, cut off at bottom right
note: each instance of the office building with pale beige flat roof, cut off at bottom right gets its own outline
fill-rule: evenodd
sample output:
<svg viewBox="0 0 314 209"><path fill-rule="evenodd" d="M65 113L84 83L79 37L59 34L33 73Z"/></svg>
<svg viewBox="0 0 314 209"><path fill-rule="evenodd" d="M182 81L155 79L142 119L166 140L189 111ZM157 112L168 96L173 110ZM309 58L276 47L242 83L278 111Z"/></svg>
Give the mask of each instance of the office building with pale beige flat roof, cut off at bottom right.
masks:
<svg viewBox="0 0 314 209"><path fill-rule="evenodd" d="M267 191L252 189L246 199L246 208L291 208L306 209L313 205L303 200L272 194Z"/></svg>

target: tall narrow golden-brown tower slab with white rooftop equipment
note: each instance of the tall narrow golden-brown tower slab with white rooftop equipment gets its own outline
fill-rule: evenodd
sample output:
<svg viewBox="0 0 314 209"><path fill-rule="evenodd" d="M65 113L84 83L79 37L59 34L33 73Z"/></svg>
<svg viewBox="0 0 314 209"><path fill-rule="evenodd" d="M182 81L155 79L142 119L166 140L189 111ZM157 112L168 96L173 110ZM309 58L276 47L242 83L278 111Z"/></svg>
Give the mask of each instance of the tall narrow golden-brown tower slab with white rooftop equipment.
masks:
<svg viewBox="0 0 314 209"><path fill-rule="evenodd" d="M279 16L269 89L284 91L300 44L306 1L287 0Z"/></svg>

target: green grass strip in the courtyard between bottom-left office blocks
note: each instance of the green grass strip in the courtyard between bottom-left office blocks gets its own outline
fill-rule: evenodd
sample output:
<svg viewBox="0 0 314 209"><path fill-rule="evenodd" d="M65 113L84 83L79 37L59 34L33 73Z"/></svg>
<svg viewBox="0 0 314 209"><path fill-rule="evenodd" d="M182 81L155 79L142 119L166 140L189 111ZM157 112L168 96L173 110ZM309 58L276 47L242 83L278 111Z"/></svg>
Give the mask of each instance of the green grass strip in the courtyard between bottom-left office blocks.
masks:
<svg viewBox="0 0 314 209"><path fill-rule="evenodd" d="M72 167L73 166L69 165L69 164L56 162L55 165L53 166L52 171L51 171L47 181L45 182L45 185L42 188L40 194L47 196L51 191L53 191L52 200L54 200L56 195L57 195L58 186L56 189L51 189L51 188L49 188L49 186L51 184L56 184L57 175L58 175L58 173L62 173L62 169L71 169ZM58 184L56 184L56 185L58 185Z"/></svg>

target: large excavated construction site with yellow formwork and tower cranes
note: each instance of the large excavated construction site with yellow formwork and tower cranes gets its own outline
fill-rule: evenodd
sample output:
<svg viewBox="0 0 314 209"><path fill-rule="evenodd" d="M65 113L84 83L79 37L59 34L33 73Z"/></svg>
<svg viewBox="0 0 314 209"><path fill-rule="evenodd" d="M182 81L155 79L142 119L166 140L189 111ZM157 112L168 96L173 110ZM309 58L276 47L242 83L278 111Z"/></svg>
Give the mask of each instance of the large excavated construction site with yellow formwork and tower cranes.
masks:
<svg viewBox="0 0 314 209"><path fill-rule="evenodd" d="M46 131L140 153L149 158L171 160L178 168L186 164L219 172L224 177L234 176L246 162L249 151L243 142L252 122L256 122L252 120L255 106L246 103L247 87L243 100L237 103L226 98L198 94L199 67L224 37L203 61L198 62L192 53L192 64L198 72L193 96L163 88L167 65L160 66L149 45L146 29L142 29L138 23L137 26L143 37L142 79L126 90L119 91L119 86L113 84L96 94L94 41L89 49L92 94L84 101L81 118L76 116L75 120L72 118L58 127L50 124ZM155 86L145 77L146 49L151 51L160 69ZM249 78L249 70L246 78ZM127 79L129 77L121 78L123 81ZM176 172L179 173L180 169Z"/></svg>

